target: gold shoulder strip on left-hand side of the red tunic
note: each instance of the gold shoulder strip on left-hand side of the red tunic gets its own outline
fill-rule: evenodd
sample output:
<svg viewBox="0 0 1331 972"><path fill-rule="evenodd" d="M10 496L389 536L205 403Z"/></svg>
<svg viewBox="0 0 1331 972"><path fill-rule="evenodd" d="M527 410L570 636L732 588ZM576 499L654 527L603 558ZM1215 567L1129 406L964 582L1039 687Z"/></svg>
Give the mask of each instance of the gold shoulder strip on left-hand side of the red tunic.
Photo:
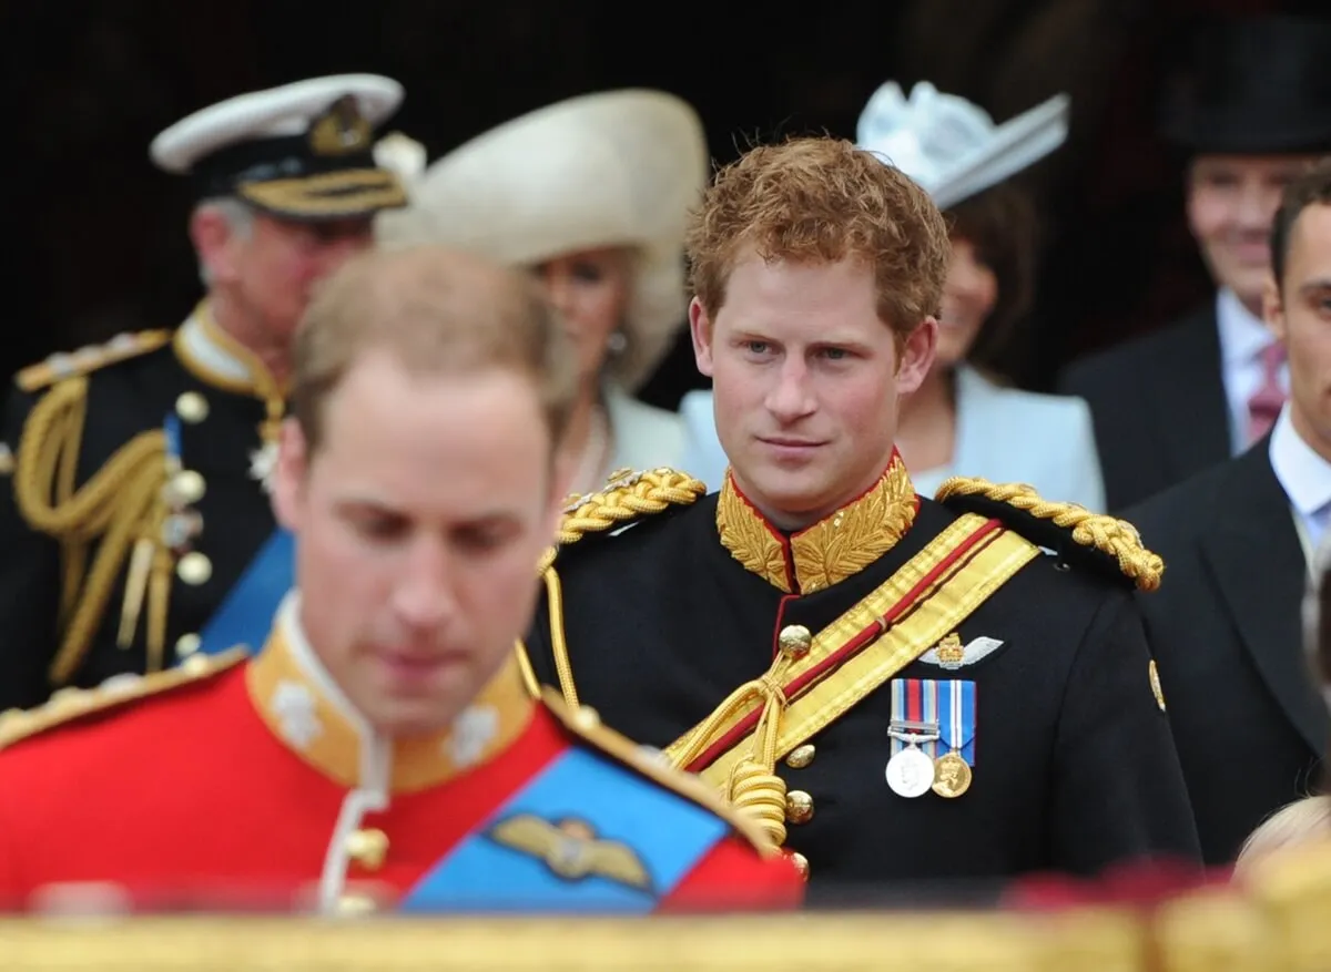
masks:
<svg viewBox="0 0 1331 972"><path fill-rule="evenodd" d="M0 713L0 750L87 715L105 713L184 685L194 685L226 671L248 657L249 652L244 648L233 648L216 656L192 656L180 668L166 671L108 678L96 689L60 689L36 709L11 709Z"/></svg>

